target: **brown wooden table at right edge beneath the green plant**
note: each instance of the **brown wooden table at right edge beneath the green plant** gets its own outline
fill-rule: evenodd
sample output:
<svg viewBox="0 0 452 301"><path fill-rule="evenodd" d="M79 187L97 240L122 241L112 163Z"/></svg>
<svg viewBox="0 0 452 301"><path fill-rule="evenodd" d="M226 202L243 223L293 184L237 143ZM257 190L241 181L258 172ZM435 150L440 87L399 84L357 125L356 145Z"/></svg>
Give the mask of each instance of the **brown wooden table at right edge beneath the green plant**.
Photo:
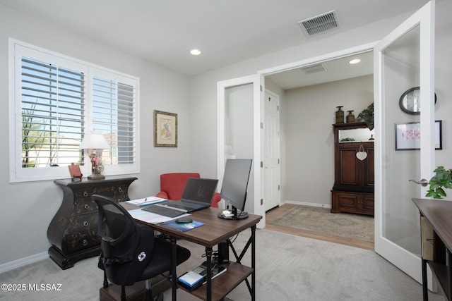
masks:
<svg viewBox="0 0 452 301"><path fill-rule="evenodd" d="M420 211L422 240L422 294L428 300L427 264L446 294L452 297L452 202L412 199ZM448 262L448 264L446 264Z"/></svg>

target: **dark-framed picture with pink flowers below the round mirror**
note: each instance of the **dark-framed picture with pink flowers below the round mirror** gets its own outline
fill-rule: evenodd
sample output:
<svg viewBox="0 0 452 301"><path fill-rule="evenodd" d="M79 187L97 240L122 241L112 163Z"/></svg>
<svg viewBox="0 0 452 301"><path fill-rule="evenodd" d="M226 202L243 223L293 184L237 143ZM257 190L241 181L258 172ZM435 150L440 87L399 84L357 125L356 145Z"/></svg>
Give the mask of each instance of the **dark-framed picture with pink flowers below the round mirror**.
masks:
<svg viewBox="0 0 452 301"><path fill-rule="evenodd" d="M434 123L435 149L443 149L442 121ZM396 123L396 150L420 149L420 122Z"/></svg>

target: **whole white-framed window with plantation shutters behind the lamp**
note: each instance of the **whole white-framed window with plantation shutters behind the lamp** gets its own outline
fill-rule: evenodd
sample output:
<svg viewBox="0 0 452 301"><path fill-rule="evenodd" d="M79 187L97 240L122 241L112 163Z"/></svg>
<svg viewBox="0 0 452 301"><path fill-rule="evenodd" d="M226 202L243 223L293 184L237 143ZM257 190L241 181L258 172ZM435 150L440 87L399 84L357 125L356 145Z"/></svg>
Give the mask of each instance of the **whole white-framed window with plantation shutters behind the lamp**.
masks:
<svg viewBox="0 0 452 301"><path fill-rule="evenodd" d="M68 178L90 164L78 149L101 132L105 175L138 173L139 79L10 40L11 182Z"/></svg>

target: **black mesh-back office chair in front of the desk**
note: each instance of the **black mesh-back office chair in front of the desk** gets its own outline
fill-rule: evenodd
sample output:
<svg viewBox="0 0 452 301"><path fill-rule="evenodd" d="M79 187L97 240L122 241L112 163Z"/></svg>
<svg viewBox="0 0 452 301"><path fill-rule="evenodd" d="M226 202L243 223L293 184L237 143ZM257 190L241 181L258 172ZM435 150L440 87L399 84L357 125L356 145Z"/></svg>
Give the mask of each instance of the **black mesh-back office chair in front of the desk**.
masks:
<svg viewBox="0 0 452 301"><path fill-rule="evenodd" d="M108 279L121 285L121 300L126 300L125 287L146 280L145 300L153 300L149 280L171 271L171 242L154 238L152 228L133 220L114 199L102 195L93 199L99 208L99 268L104 270L104 287ZM189 257L189 250L177 246L177 265Z"/></svg>

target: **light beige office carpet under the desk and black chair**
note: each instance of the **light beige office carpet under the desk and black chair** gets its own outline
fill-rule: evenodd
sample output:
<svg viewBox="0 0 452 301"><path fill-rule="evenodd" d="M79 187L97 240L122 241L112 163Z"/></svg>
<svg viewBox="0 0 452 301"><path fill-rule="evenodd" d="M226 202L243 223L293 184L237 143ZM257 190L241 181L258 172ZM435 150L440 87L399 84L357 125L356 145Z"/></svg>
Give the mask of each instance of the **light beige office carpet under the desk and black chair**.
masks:
<svg viewBox="0 0 452 301"><path fill-rule="evenodd" d="M250 231L234 240L243 250ZM204 248L181 240L191 257L177 267L178 274L205 260ZM242 263L250 265L250 250ZM230 259L233 258L232 252ZM219 276L220 279L222 276ZM61 270L52 259L0 274L0 283L25 284L26 290L0 290L1 301L98 301L102 271L97 258L83 259ZM30 290L29 284L61 284L61 290ZM234 301L251 300L246 283L227 295ZM171 292L165 301L172 300ZM200 301L177 290L178 301ZM258 301L412 301L422 300L422 285L371 250L266 230L256 231L256 300ZM444 297L429 292L430 301Z"/></svg>

